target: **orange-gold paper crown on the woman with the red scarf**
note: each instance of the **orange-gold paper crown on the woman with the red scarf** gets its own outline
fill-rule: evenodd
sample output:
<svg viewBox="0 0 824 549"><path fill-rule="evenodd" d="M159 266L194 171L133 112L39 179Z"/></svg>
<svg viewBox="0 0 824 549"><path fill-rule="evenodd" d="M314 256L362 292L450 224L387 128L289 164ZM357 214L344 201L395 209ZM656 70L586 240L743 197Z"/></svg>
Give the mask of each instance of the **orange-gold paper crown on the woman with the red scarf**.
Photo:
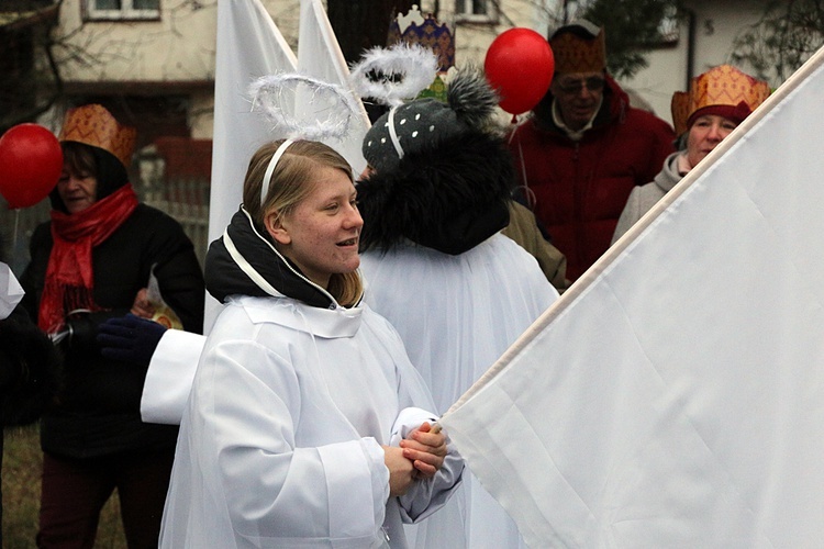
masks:
<svg viewBox="0 0 824 549"><path fill-rule="evenodd" d="M108 150L129 168L137 130L122 125L103 105L87 104L66 113L58 138Z"/></svg>

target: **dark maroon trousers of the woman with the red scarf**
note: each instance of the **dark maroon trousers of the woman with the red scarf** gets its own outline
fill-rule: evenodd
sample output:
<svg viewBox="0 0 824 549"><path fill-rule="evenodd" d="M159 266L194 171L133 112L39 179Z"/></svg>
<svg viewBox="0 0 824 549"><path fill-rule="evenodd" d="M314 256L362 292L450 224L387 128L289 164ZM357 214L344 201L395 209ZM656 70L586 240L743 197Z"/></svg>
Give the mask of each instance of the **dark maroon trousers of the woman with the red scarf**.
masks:
<svg viewBox="0 0 824 549"><path fill-rule="evenodd" d="M157 548L174 448L90 459L43 456L37 547L91 549L100 511L118 489L130 549Z"/></svg>

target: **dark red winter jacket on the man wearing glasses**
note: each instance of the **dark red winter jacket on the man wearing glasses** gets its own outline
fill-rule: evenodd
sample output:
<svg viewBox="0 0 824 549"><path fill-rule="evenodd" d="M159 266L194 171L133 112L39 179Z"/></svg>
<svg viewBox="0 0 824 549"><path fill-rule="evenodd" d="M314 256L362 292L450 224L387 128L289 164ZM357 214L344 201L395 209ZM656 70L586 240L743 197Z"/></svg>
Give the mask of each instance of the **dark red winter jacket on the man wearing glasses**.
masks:
<svg viewBox="0 0 824 549"><path fill-rule="evenodd" d="M606 78L593 126L574 142L552 121L552 93L510 136L521 184L531 189L535 215L567 257L576 280L610 246L633 187L652 181L675 150L675 133L654 114L630 107Z"/></svg>

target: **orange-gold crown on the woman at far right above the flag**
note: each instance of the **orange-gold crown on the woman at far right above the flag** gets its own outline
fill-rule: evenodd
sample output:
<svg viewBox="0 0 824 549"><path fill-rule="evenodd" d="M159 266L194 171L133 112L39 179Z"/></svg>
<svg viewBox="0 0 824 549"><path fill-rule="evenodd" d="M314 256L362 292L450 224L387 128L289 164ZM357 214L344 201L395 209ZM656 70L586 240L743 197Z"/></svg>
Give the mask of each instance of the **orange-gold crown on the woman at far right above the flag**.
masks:
<svg viewBox="0 0 824 549"><path fill-rule="evenodd" d="M687 122L697 111L708 107L738 107L744 102L749 112L770 94L770 87L731 65L720 65L690 80L689 92L672 96L672 125L676 134L689 130Z"/></svg>

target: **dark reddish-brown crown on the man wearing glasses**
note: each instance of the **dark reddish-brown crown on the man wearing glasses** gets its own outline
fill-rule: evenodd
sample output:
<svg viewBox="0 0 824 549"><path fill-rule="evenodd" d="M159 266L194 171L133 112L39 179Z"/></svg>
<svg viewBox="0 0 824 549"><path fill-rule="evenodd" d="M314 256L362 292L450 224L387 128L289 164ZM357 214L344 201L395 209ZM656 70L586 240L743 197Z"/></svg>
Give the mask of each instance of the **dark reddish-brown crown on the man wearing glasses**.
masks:
<svg viewBox="0 0 824 549"><path fill-rule="evenodd" d="M586 34L592 37L582 36ZM556 72L598 72L606 68L603 29L589 21L561 26L549 38L549 45L555 56Z"/></svg>

